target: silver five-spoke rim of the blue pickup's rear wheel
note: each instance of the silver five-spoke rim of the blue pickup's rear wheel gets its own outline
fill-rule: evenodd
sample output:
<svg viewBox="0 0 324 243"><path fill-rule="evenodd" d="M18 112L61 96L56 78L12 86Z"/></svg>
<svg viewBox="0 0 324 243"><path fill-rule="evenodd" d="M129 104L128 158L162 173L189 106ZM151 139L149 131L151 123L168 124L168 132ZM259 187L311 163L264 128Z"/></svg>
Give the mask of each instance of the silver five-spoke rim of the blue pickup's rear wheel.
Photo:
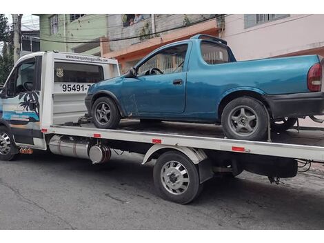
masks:
<svg viewBox="0 0 324 243"><path fill-rule="evenodd" d="M239 136L250 136L256 132L259 119L256 112L249 106L237 106L234 108L227 120L233 133Z"/></svg>

